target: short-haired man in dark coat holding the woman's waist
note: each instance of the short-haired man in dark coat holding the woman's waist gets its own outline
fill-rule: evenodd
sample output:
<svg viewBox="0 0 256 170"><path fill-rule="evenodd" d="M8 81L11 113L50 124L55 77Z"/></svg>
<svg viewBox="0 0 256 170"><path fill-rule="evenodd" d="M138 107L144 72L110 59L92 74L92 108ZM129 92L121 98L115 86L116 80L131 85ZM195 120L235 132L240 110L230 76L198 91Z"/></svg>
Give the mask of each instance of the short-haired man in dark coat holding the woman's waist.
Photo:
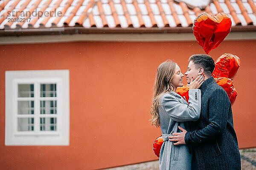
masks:
<svg viewBox="0 0 256 170"><path fill-rule="evenodd" d="M201 114L198 121L191 122L191 132L179 127L181 133L173 133L169 141L192 146L193 170L241 170L231 103L226 91L212 77L214 60L206 54L195 54L189 58L187 68L188 83L192 77L205 75L200 87Z"/></svg>

